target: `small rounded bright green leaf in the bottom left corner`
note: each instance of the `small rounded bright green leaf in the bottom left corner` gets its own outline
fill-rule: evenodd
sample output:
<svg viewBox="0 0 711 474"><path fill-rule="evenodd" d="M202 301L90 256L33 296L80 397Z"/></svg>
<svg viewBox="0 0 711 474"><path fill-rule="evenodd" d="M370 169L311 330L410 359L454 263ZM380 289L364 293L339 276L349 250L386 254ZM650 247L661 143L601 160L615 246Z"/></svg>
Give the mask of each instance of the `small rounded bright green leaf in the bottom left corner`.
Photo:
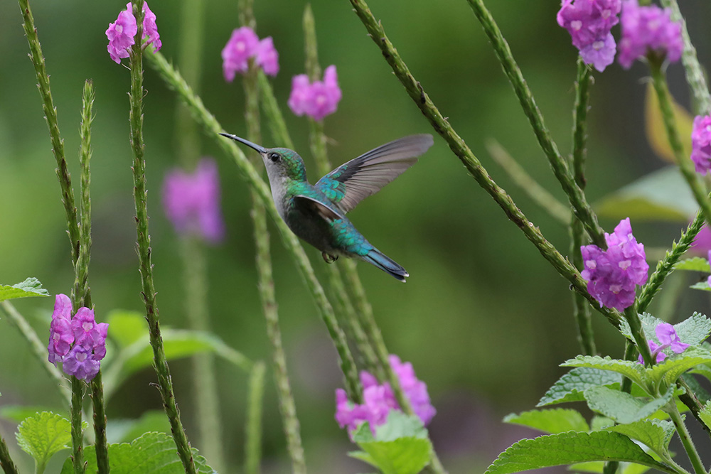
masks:
<svg viewBox="0 0 711 474"><path fill-rule="evenodd" d="M72 424L50 411L36 413L17 426L17 443L35 458L37 472L43 472L55 453L72 447Z"/></svg>

